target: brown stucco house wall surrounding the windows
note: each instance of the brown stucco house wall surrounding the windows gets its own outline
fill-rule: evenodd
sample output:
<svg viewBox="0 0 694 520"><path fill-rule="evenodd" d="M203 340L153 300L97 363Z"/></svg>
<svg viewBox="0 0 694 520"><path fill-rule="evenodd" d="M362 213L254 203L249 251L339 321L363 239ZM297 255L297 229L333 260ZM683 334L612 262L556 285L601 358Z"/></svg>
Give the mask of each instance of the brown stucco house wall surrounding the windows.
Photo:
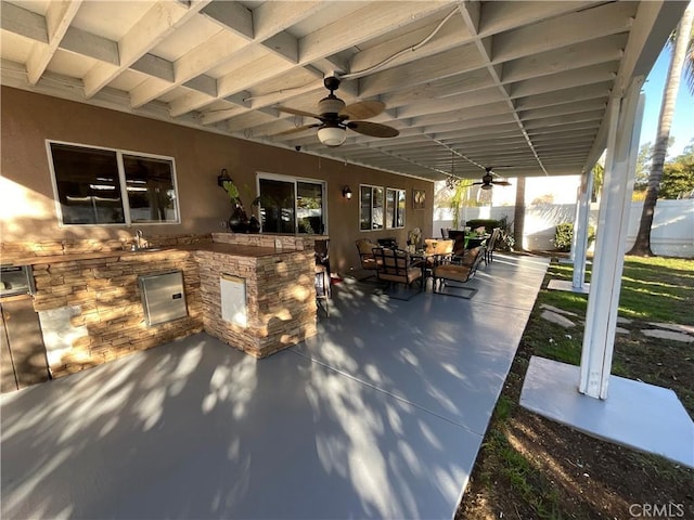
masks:
<svg viewBox="0 0 694 520"><path fill-rule="evenodd" d="M334 271L358 265L355 240L396 236L421 227L432 235L432 206L412 210L412 190L426 191L434 199L434 184L354 165L319 158L293 150L252 143L168 122L99 108L82 103L2 87L0 160L1 240L41 242L64 238L127 239L126 226L60 227L49 170L46 140L120 148L175 158L181 224L138 225L145 236L198 234L223 231L231 211L227 194L216 178L227 168L248 207L255 197L256 172L296 176L327 181L329 234ZM407 190L403 230L359 231L359 184ZM355 196L342 197L348 184ZM249 186L248 195L243 186Z"/></svg>

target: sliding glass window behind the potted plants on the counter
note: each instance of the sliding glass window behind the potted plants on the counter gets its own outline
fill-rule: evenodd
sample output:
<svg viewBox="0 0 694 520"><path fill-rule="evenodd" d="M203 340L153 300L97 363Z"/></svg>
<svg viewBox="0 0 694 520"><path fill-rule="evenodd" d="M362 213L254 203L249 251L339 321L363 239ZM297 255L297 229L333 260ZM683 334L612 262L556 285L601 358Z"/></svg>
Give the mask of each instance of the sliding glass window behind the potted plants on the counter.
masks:
<svg viewBox="0 0 694 520"><path fill-rule="evenodd" d="M265 233L325 233L325 183L259 174L258 187Z"/></svg>

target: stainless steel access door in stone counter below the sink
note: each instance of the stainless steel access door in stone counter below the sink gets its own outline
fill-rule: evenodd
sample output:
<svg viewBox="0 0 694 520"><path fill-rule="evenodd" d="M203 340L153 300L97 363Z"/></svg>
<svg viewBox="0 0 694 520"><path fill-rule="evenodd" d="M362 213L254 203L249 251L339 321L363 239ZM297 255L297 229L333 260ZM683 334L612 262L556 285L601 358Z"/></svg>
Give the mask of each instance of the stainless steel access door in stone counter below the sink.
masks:
<svg viewBox="0 0 694 520"><path fill-rule="evenodd" d="M188 316L183 274L180 271L140 276L142 307L147 325Z"/></svg>

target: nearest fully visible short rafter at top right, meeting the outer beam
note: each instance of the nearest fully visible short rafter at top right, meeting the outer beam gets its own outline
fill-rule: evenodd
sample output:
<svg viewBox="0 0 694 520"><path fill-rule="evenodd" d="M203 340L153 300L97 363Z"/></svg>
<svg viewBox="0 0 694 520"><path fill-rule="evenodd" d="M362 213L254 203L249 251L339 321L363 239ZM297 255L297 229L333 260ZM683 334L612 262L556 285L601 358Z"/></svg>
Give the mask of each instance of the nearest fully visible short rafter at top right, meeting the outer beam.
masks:
<svg viewBox="0 0 694 520"><path fill-rule="evenodd" d="M616 2L520 27L494 37L494 63L629 30L635 4ZM570 27L570 30L567 28Z"/></svg>

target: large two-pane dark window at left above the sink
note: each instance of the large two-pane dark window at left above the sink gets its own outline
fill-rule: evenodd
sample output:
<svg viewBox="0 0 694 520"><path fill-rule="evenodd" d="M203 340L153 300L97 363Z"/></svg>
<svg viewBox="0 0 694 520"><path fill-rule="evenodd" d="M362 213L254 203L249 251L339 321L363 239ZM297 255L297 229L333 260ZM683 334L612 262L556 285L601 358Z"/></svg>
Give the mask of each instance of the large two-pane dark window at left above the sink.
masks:
<svg viewBox="0 0 694 520"><path fill-rule="evenodd" d="M178 223L174 159L49 143L61 223Z"/></svg>

